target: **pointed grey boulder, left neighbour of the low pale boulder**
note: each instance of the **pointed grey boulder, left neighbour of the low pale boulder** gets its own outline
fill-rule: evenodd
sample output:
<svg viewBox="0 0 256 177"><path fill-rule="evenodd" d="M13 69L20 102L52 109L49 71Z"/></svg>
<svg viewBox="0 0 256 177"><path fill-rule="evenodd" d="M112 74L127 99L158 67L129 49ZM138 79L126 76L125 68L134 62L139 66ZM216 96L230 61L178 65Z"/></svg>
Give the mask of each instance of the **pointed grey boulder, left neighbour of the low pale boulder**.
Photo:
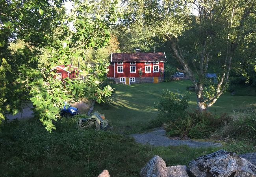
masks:
<svg viewBox="0 0 256 177"><path fill-rule="evenodd" d="M139 175L141 177L167 177L165 161L156 155L141 169Z"/></svg>

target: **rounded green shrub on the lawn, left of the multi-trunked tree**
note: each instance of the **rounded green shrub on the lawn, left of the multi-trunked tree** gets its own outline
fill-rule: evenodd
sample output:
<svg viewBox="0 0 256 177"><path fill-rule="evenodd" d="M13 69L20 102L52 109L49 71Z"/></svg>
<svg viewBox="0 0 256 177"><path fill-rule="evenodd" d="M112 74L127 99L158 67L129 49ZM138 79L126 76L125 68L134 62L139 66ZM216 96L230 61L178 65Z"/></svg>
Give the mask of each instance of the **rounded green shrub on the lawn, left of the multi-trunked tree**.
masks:
<svg viewBox="0 0 256 177"><path fill-rule="evenodd" d="M173 118L182 114L189 105L189 96L185 94L174 94L169 90L163 90L161 98L155 105L158 109L158 117Z"/></svg>

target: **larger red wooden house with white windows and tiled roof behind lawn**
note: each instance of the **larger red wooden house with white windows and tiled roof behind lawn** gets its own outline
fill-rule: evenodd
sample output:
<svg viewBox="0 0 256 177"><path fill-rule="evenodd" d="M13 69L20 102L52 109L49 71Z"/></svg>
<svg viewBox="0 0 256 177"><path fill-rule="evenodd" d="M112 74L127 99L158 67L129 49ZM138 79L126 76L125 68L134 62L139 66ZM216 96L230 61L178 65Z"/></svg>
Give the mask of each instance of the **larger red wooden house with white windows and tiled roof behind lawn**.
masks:
<svg viewBox="0 0 256 177"><path fill-rule="evenodd" d="M107 77L116 83L158 83L164 80L165 53L111 53ZM141 71L142 75L141 75Z"/></svg>

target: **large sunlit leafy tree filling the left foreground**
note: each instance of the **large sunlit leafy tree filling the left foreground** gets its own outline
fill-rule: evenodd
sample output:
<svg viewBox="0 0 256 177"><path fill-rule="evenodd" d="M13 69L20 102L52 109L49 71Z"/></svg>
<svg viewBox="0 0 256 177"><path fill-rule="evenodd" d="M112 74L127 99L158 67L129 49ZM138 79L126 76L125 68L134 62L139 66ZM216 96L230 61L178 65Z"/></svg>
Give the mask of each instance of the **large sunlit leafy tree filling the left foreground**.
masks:
<svg viewBox="0 0 256 177"><path fill-rule="evenodd" d="M0 96L0 118L7 112L15 114L26 100L30 100L35 115L51 132L63 101L87 97L101 102L111 95L110 86L100 88L97 82L106 76L106 59L97 59L95 65L81 65L79 69L80 74L86 76L84 80L78 76L62 83L54 78L52 70L57 65L85 61L86 49L108 44L109 26L119 16L117 0L106 3L102 7L104 11L95 11L99 2L74 1L67 15L63 1L1 1L0 72L4 79L0 87L5 94ZM16 39L26 43L11 52L9 43L15 43ZM11 54L13 52L15 55Z"/></svg>

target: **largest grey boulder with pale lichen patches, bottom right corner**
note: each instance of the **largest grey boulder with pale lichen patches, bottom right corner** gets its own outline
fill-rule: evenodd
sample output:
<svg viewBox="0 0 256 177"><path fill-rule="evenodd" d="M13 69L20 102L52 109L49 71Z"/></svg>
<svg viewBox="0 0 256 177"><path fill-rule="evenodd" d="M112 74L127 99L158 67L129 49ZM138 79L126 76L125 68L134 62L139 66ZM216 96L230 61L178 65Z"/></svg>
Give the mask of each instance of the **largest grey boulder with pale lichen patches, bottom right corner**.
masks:
<svg viewBox="0 0 256 177"><path fill-rule="evenodd" d="M256 167L236 153L219 150L189 162L196 177L256 177Z"/></svg>

